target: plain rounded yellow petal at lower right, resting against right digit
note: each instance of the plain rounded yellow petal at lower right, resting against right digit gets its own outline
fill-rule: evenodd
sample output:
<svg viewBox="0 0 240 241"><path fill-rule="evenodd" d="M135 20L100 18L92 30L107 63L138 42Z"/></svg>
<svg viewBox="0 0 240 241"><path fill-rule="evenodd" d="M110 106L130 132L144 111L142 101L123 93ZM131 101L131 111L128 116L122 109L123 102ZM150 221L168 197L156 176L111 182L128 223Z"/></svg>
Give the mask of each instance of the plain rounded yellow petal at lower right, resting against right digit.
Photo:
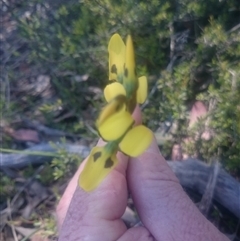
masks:
<svg viewBox="0 0 240 241"><path fill-rule="evenodd" d="M131 157L141 155L151 144L153 133L143 125L132 128L124 136L119 144L119 148L125 154Z"/></svg>

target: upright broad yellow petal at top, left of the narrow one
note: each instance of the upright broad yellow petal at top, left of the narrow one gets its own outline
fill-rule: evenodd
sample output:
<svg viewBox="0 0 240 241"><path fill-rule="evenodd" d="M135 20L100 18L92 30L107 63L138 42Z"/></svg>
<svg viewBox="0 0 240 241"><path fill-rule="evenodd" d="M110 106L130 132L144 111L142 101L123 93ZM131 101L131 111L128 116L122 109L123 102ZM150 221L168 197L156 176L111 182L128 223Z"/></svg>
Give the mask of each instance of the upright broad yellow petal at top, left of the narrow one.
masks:
<svg viewBox="0 0 240 241"><path fill-rule="evenodd" d="M121 82L123 75L126 47L119 34L114 34L108 44L109 52L109 80Z"/></svg>

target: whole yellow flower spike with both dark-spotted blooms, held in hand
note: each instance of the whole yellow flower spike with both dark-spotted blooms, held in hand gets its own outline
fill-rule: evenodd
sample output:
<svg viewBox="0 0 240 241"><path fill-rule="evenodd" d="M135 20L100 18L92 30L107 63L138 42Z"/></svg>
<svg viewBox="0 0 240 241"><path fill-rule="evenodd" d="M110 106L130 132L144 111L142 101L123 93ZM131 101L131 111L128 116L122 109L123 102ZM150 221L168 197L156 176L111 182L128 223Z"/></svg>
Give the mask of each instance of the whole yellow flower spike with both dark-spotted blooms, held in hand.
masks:
<svg viewBox="0 0 240 241"><path fill-rule="evenodd" d="M110 39L109 79L104 96L107 105L96 121L99 135L107 142L104 147L94 147L79 177L79 186L85 191L94 190L117 164L117 151L137 157L150 145L153 134L145 126L134 126L131 112L136 102L147 97L147 78L137 79L132 38L126 46L118 34Z"/></svg>

